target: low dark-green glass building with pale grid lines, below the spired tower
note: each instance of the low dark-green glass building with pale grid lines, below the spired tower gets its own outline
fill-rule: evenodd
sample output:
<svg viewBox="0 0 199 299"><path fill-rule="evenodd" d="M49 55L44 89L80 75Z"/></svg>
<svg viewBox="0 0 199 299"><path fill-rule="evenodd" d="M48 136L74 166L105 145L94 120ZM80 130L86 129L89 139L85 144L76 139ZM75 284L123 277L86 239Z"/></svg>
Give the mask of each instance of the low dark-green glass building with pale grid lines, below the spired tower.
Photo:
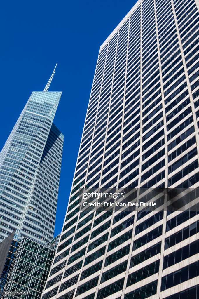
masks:
<svg viewBox="0 0 199 299"><path fill-rule="evenodd" d="M1 298L40 299L54 254L49 246L22 237Z"/></svg>

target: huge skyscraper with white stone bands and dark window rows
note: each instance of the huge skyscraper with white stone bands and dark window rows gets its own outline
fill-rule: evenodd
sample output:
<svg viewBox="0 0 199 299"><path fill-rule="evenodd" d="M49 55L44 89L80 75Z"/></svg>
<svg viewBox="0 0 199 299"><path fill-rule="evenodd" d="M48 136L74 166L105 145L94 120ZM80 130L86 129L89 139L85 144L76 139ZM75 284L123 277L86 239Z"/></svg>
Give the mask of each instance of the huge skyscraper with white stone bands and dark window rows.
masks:
<svg viewBox="0 0 199 299"><path fill-rule="evenodd" d="M148 214L78 208L80 186L198 187L198 8L198 0L138 1L100 47L42 299L199 298L197 199L193 211L174 213L164 198Z"/></svg>

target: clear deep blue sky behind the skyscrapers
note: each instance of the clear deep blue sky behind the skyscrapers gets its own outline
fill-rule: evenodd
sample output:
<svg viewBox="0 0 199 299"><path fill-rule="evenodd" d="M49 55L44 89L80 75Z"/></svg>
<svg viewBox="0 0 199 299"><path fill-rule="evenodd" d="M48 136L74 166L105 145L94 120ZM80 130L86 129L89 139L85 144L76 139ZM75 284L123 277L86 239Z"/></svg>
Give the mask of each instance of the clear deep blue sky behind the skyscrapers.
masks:
<svg viewBox="0 0 199 299"><path fill-rule="evenodd" d="M64 150L55 235L62 230L100 45L133 7L129 0L2 1L3 147L32 91L63 91L54 119Z"/></svg>

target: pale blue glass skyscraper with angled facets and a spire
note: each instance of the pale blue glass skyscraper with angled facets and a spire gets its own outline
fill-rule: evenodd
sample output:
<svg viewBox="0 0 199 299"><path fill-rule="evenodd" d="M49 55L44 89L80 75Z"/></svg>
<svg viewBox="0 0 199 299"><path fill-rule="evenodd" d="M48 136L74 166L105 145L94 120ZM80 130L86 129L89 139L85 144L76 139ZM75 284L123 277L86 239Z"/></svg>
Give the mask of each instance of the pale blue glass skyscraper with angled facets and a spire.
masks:
<svg viewBox="0 0 199 299"><path fill-rule="evenodd" d="M54 74L55 70L53 71ZM33 91L0 153L0 241L53 238L63 135L53 124L62 92Z"/></svg>

